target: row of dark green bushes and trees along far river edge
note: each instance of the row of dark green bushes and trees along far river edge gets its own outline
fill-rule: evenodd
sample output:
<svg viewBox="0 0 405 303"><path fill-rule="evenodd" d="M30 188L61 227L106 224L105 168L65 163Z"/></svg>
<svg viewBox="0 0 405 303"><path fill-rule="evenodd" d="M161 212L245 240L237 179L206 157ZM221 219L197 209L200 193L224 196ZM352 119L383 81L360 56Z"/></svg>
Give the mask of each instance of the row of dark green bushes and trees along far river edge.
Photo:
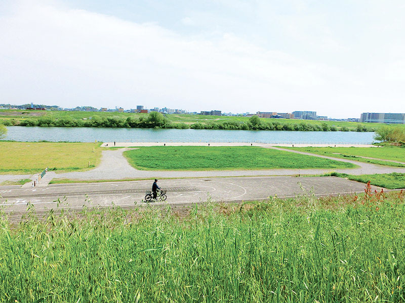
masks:
<svg viewBox="0 0 405 303"><path fill-rule="evenodd" d="M4 120L5 125L19 126L59 126L59 127L124 127L124 128L179 128L179 129L238 129L238 130L289 130L289 131L375 131L358 124L356 129L346 126L337 127L326 122L310 124L305 121L285 123L282 121L263 121L257 116L252 116L248 121L217 121L196 122L194 124L172 123L164 115L152 112L147 116L135 117L94 117L89 120L78 120L70 117L55 119L40 117L26 120Z"/></svg>

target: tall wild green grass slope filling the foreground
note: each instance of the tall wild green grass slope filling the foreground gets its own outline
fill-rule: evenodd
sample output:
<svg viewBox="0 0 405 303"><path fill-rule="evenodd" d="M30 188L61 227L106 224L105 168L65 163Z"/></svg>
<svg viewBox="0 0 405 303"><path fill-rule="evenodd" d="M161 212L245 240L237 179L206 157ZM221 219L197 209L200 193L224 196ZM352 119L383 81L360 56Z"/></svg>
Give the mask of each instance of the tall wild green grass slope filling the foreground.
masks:
<svg viewBox="0 0 405 303"><path fill-rule="evenodd" d="M0 301L403 302L404 216L369 192L0 221Z"/></svg>

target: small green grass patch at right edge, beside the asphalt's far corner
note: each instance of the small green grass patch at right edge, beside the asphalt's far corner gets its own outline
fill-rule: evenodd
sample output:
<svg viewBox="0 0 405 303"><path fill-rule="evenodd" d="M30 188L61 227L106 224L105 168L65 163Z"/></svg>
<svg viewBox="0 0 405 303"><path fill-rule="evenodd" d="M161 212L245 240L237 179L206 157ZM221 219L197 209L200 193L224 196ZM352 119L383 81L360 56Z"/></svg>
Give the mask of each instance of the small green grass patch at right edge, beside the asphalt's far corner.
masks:
<svg viewBox="0 0 405 303"><path fill-rule="evenodd" d="M333 172L322 176L336 176L340 178L348 178L350 180L363 183L370 182L373 185L389 189L405 188L405 174L391 173L391 174L372 174L372 175L348 175Z"/></svg>

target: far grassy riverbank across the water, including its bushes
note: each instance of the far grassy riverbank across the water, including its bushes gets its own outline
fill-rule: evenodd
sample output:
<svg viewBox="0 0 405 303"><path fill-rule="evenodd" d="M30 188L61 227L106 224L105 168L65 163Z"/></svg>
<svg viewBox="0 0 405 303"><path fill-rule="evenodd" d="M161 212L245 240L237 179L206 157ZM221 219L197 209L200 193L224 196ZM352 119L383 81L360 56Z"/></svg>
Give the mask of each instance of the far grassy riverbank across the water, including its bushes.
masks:
<svg viewBox="0 0 405 303"><path fill-rule="evenodd" d="M155 114L153 114L155 115ZM0 110L0 124L60 127L159 127L194 129L299 130L299 131L374 131L383 124L263 118L252 123L250 117L204 115L158 115Z"/></svg>

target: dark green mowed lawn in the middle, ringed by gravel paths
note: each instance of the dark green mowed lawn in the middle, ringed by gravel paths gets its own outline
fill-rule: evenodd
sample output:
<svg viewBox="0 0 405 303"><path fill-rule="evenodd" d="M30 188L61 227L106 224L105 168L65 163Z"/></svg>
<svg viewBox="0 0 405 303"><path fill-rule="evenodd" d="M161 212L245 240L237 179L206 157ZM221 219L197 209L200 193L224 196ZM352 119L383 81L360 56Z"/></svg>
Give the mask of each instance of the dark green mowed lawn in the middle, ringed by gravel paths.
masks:
<svg viewBox="0 0 405 303"><path fill-rule="evenodd" d="M354 168L355 165L256 146L150 146L124 152L129 163L147 170L230 170Z"/></svg>

